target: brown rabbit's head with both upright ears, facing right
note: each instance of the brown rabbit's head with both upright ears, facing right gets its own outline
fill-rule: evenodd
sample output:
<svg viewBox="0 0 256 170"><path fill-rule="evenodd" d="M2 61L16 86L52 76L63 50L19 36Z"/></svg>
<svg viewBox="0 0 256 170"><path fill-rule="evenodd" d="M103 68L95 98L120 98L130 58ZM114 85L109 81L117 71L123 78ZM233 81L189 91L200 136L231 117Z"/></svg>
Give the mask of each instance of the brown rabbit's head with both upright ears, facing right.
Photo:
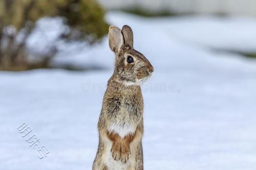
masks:
<svg viewBox="0 0 256 170"><path fill-rule="evenodd" d="M140 85L154 71L151 63L133 48L133 31L129 26L109 28L109 46L115 53L114 76L125 85Z"/></svg>

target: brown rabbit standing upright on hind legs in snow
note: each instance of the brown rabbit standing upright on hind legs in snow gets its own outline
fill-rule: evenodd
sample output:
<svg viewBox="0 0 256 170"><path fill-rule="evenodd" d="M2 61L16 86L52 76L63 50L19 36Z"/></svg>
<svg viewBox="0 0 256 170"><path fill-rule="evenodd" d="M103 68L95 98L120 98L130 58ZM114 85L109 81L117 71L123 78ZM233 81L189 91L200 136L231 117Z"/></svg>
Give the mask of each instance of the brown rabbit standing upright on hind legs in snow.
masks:
<svg viewBox="0 0 256 170"><path fill-rule="evenodd" d="M93 170L143 169L143 98L141 83L154 71L133 48L133 31L109 28L115 68L108 81L98 121L99 144Z"/></svg>

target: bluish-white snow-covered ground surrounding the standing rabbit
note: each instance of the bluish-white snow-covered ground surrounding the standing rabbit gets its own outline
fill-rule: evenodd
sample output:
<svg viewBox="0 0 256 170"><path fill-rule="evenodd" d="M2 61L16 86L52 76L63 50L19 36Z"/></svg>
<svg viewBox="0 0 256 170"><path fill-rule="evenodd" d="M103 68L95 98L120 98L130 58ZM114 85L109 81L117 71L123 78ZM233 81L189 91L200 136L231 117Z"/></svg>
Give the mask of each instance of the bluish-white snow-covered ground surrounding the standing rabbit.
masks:
<svg viewBox="0 0 256 170"><path fill-rule="evenodd" d="M255 169L256 60L208 47L256 50L256 21L121 13L106 18L130 25L135 48L155 67L143 85L145 169ZM0 72L1 170L91 169L114 57L107 39L69 55L55 62L105 69ZM47 157L39 159L18 133L24 122L50 151Z"/></svg>

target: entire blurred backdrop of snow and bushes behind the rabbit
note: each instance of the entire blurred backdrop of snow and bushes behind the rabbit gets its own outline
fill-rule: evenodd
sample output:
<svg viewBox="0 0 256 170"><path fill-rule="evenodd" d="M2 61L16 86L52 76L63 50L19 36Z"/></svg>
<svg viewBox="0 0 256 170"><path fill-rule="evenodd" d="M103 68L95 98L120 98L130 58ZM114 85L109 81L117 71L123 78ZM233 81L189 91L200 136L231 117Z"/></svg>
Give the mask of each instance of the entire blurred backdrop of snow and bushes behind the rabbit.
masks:
<svg viewBox="0 0 256 170"><path fill-rule="evenodd" d="M254 169L253 0L0 0L0 169L91 169L111 25L155 68L144 168Z"/></svg>

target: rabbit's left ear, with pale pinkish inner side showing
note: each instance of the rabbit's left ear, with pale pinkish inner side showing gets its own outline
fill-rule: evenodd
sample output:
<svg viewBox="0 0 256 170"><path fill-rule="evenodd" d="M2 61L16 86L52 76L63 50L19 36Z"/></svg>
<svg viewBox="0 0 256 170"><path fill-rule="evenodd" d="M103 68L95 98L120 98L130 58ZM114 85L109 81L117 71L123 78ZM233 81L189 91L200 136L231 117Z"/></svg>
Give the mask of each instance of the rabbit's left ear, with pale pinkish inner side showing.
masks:
<svg viewBox="0 0 256 170"><path fill-rule="evenodd" d="M109 45L110 49L118 53L121 46L124 44L122 31L116 26L110 26L109 28Z"/></svg>

